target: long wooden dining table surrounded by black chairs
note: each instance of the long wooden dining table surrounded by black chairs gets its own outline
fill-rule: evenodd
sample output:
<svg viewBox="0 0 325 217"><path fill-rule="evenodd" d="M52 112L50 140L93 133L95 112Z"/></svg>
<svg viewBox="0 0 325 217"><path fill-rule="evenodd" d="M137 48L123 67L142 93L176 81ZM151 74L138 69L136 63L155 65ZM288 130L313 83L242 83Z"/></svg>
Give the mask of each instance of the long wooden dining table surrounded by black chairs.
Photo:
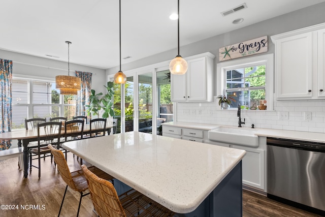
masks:
<svg viewBox="0 0 325 217"><path fill-rule="evenodd" d="M112 122L107 122L106 123L106 129L107 131L116 125L113 124ZM83 134L87 134L90 132L90 126L85 125L83 129ZM40 136L45 135L45 133L40 132ZM65 137L66 134L64 132L64 128L61 129L61 137ZM69 131L67 131L67 136L69 136ZM38 140L38 133L37 133L37 128L35 129L30 129L30 130L16 130L16 131L11 131L11 132L5 132L5 133L0 133L0 140L12 140L12 139L17 139L18 140L18 147L23 147L23 160L24 160L24 177L28 177L28 148L27 145L29 142L32 141L37 141Z"/></svg>

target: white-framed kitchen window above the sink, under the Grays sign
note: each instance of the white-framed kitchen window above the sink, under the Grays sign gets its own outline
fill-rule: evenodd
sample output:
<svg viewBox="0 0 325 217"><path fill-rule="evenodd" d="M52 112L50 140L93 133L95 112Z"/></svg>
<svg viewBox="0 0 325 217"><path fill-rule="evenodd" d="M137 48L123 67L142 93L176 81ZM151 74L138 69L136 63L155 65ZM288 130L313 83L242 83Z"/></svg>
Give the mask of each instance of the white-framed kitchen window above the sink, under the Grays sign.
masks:
<svg viewBox="0 0 325 217"><path fill-rule="evenodd" d="M232 97L230 108L257 109L267 105L273 109L273 55L228 61L217 66L220 88L218 95Z"/></svg>

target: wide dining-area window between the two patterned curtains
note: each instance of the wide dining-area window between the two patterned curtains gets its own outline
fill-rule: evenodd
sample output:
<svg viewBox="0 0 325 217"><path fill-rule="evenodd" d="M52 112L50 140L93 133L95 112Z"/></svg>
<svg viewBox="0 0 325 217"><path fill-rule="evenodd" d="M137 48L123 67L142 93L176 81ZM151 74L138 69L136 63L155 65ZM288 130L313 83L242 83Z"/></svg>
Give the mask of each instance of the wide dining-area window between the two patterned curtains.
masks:
<svg viewBox="0 0 325 217"><path fill-rule="evenodd" d="M12 99L12 129L24 129L25 118L72 119L76 113L76 96L59 95L54 81L13 78Z"/></svg>

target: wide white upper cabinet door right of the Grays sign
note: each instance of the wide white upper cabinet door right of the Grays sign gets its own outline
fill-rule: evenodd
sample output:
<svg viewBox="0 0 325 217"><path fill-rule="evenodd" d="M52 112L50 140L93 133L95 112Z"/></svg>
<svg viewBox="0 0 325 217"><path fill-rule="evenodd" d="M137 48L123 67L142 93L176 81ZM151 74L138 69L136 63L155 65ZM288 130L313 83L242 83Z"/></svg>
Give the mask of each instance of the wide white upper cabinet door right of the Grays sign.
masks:
<svg viewBox="0 0 325 217"><path fill-rule="evenodd" d="M276 41L277 98L312 97L312 33Z"/></svg>

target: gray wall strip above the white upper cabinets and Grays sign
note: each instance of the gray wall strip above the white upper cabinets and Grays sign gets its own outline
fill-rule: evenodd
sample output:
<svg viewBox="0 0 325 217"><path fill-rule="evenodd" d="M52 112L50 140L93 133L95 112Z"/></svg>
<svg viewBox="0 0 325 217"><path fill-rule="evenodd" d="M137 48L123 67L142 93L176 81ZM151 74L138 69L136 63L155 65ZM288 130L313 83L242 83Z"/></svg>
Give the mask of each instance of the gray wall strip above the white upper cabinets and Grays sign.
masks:
<svg viewBox="0 0 325 217"><path fill-rule="evenodd" d="M270 36L277 35L290 30L299 29L319 23L325 22L325 3L320 3L311 7L307 7L298 11L294 11L288 14L284 14L272 19L268 19L253 25L249 25L229 33L214 36L212 38L202 40L193 44L180 47L180 53L183 57L200 54L204 52L213 53L216 58L214 60L214 74L216 74L216 64L219 63L218 50L220 47L226 45L232 45L239 42L247 41L250 39L268 36L268 52L274 53L274 44L272 43ZM244 21L245 22L245 21ZM217 27L216 27L217 28ZM267 53L263 53L267 54ZM148 66L151 64L160 63L162 61L171 60L177 54L177 50L169 50L163 53L159 53L147 58L134 61L122 66L123 71ZM252 57L252 56L250 56ZM243 57L244 58L244 57ZM106 70L107 75L115 74L118 71L118 67ZM214 90L216 95L216 89Z"/></svg>

